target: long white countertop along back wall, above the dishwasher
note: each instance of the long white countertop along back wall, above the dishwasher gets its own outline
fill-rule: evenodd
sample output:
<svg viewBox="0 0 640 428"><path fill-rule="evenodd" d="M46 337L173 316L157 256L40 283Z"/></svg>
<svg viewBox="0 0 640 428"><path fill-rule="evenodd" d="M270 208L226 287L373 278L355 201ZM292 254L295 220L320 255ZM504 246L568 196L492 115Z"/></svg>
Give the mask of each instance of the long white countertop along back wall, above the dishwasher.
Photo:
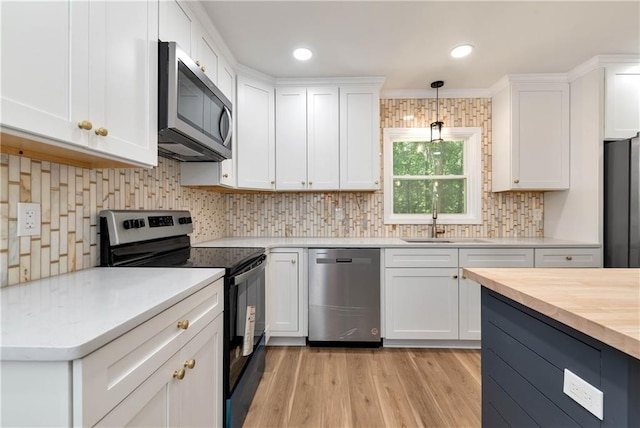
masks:
<svg viewBox="0 0 640 428"><path fill-rule="evenodd" d="M594 247L595 242L565 241L552 238L456 238L444 237L439 241L451 242L406 242L407 238L279 238L279 237L248 237L248 238L220 238L212 241L192 244L194 247L265 247L265 248L397 248L397 247L529 247L529 248L567 248ZM418 238L419 239L419 238ZM424 238L428 239L428 238Z"/></svg>

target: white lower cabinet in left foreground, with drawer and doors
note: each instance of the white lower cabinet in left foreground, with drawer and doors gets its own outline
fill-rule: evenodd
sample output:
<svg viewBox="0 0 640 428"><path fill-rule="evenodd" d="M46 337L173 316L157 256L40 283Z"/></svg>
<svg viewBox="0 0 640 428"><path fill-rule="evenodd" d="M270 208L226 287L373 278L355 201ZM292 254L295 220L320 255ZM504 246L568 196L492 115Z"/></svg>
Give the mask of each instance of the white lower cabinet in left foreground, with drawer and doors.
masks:
<svg viewBox="0 0 640 428"><path fill-rule="evenodd" d="M0 362L2 425L222 426L223 281L81 359Z"/></svg>

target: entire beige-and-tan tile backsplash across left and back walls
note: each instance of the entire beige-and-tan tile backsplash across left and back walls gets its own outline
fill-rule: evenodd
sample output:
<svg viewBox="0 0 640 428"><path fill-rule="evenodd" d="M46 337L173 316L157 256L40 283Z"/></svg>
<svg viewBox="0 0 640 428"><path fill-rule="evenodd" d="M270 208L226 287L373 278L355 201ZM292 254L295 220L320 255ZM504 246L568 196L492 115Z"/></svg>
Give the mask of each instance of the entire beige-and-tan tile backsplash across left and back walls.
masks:
<svg viewBox="0 0 640 428"><path fill-rule="evenodd" d="M434 99L381 100L381 128L429 127ZM413 116L405 120L406 116ZM448 236L542 237L533 218L543 193L491 193L491 100L440 99L446 126L482 127L482 224L442 225ZM382 133L381 133L382 134ZM382 143L381 151L382 151ZM381 162L382 164L382 162ZM85 169L0 155L0 286L71 272L98 263L102 209L187 209L192 242L224 236L428 236L429 225L385 225L382 191L368 193L220 194L179 185L179 163L153 169ZM42 233L17 237L18 202L40 203ZM341 208L342 220L335 209Z"/></svg>

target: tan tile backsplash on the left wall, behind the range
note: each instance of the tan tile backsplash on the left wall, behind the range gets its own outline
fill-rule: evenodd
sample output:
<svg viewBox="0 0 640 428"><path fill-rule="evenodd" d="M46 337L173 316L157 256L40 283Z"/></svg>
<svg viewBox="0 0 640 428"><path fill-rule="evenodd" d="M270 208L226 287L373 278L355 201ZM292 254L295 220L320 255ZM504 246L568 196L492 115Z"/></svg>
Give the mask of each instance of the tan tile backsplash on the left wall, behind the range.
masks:
<svg viewBox="0 0 640 428"><path fill-rule="evenodd" d="M179 185L179 163L158 167L86 169L0 155L0 286L98 264L102 209L187 209L192 242L227 235L226 198ZM18 202L40 203L40 236L17 237Z"/></svg>

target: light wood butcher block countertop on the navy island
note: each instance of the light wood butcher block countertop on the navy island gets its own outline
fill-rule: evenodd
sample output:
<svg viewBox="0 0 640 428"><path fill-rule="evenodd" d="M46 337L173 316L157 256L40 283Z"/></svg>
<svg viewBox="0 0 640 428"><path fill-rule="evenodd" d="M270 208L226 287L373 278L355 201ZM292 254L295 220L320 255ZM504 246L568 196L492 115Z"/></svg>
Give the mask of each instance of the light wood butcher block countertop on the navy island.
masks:
<svg viewBox="0 0 640 428"><path fill-rule="evenodd" d="M464 269L467 278L640 359L640 269Z"/></svg>

